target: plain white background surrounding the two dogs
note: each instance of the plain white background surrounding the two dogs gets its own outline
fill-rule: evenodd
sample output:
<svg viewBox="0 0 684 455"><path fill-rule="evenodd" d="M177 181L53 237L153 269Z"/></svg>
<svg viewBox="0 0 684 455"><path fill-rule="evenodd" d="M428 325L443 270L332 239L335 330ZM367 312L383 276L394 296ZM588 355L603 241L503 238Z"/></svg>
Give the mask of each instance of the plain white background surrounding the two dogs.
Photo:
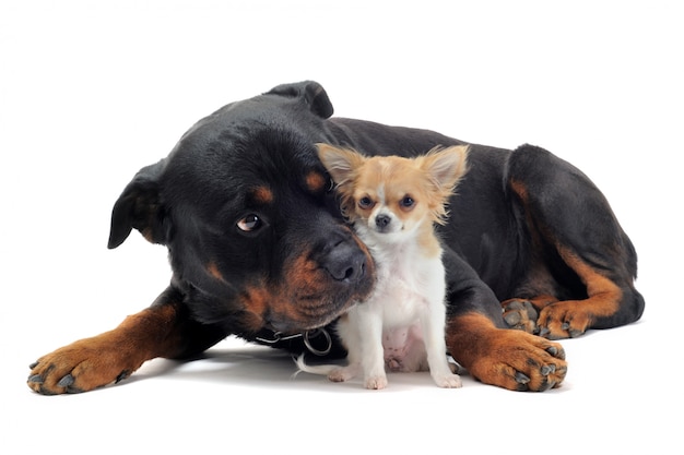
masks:
<svg viewBox="0 0 684 455"><path fill-rule="evenodd" d="M676 3L2 0L0 452L674 453ZM564 342L566 383L543 394L472 378L444 391L422 373L382 392L292 380L287 356L234 339L94 393L32 393L38 356L113 328L168 282L165 250L137 232L106 249L133 173L220 106L306 79L337 116L529 142L580 167L637 247L642 320Z"/></svg>

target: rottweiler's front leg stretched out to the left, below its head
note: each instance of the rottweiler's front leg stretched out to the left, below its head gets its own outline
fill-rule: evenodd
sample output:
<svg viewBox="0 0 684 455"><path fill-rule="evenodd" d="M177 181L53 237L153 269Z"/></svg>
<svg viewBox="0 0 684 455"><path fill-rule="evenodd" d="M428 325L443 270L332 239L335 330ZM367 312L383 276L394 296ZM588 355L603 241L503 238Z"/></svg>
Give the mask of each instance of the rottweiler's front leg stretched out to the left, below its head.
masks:
<svg viewBox="0 0 684 455"><path fill-rule="evenodd" d="M198 326L169 287L115 330L40 357L31 366L27 384L45 395L87 392L128 378L146 360L199 352L225 336Z"/></svg>

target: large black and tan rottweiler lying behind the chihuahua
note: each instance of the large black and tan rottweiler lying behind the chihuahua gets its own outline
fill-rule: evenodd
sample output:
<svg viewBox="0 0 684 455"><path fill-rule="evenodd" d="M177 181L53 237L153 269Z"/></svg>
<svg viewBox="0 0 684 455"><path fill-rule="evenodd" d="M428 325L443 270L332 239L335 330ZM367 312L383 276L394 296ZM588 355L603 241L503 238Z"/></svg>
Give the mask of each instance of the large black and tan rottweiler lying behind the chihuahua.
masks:
<svg viewBox="0 0 684 455"><path fill-rule="evenodd" d="M169 287L114 331L42 357L28 385L91 391L231 334L343 355L332 331L317 327L370 291L374 264L343 223L314 144L415 155L462 142L331 115L319 84L281 85L200 120L141 169L114 207L109 248L132 228L167 246ZM549 339L640 318L629 239L591 181L551 153L471 145L450 213L447 346L477 380L558 386L567 366Z"/></svg>

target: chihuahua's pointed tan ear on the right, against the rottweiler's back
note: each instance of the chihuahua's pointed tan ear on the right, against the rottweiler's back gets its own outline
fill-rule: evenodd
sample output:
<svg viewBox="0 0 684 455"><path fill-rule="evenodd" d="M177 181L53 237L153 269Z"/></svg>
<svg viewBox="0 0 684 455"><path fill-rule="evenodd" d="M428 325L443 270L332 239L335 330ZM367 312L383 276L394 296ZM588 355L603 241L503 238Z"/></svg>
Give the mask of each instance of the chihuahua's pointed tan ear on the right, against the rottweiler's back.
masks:
<svg viewBox="0 0 684 455"><path fill-rule="evenodd" d="M468 145L433 148L423 157L422 166L439 190L451 193L468 171Z"/></svg>

